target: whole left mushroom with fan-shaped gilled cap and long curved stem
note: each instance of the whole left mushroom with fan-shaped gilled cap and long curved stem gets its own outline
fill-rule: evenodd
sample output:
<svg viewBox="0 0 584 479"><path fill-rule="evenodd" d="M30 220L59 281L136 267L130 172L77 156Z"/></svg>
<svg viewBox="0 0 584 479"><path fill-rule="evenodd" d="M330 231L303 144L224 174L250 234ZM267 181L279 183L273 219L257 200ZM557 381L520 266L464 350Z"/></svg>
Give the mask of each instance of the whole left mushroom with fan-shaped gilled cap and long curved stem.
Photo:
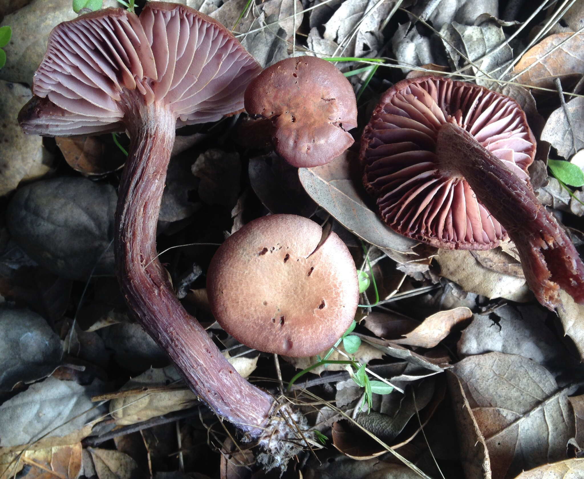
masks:
<svg viewBox="0 0 584 479"><path fill-rule="evenodd" d="M127 129L114 250L128 306L217 414L273 450L281 446L270 443L273 426L279 438L287 434L272 419L273 397L239 376L183 309L155 244L175 128L241 110L260 70L225 27L186 6L148 2L140 18L106 9L51 32L19 120L25 132L43 135Z"/></svg>

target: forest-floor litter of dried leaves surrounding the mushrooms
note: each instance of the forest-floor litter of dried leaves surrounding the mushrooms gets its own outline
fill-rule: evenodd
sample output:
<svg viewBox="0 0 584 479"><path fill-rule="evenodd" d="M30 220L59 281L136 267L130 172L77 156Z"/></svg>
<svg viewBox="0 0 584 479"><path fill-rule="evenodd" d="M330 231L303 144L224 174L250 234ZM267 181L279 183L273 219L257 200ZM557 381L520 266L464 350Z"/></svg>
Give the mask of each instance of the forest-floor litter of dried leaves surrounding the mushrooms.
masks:
<svg viewBox="0 0 584 479"><path fill-rule="evenodd" d="M503 19L510 11L503 12L505 2L499 11L499 2L487 0L415 5L269 0L251 2L248 9L244 0L182 3L234 27L265 67L298 54L350 57L336 65L360 92L360 124L377 95L406 74L457 71L459 79L499 88L522 104L538 137L542 153L532 169L537 181L532 180L540 201L563 215L577 247L584 243L582 191L566 186L560 170L550 169L558 177L547 177L544 143L551 144L552 160L582 168L576 152L584 149L578 96L584 12L578 2L545 13L540 13L544 4L525 6L519 18ZM13 85L20 103L29 93L19 83L30 85L48 32L62 19L74 18L70 2L53 4L49 8L33 0L2 20L18 41L5 48L8 62L0 78L18 82L2 85ZM371 61L355 57L384 61L371 75ZM561 79L561 87L555 79ZM8 104L7 88L0 108ZM4 115L12 119L11 128L16 124L12 110ZM190 245L162 255L169 277L185 289L185 305L210 327L209 334L225 356L239 363L243 375L251 374L250 380L278 394L296 372L321 362L328 351L275 361L250 352L214 326L203 299L204 275L186 286L181 281L195 266L205 271L213 244L257 216L294 211L329 222L350 247L357 267L376 279L379 299L373 285L361 295L369 307L359 309L352 333L360 347L347 354L339 345L328 359L354 359L371 380L395 386L391 394L373 393L367 414L366 390L354 379L355 369L331 363L306 373L288 398L302 405L328 445L304 452L296 466L301 472L290 469L286 477L420 477L416 467L430 477L468 479L578 473L582 459L575 457L584 444L582 306L564 293L558 316L537 305L513 244L491 251L437 251L395 235L378 219L361 187L354 151L296 173L269 147L242 141L234 124L227 120L181 132L182 151L175 152L166 181L158 249ZM123 162L111 137L55 144L19 138L18 128L1 134L8 146L0 146L0 161L9 158L9 167L18 170L0 171L3 193L18 188L9 197L15 205L26 188L41 193L12 207L9 229L0 231L0 294L6 303L0 313L0 371L5 371L0 477L19 472L32 478L38 471L100 479L148 473L184 477L183 471L215 477L217 463L221 477L247 477L256 467L253 450L235 435L235 442L228 438L166 355L128 318L114 279L103 276L113 274L108 245L119 173L116 165L99 159L116 156ZM23 141L30 145L21 146ZM79 173L93 181L82 183ZM46 180L56 182L52 191L34 181L46 174L57 177ZM27 181L34 182L27 186ZM366 249L376 246L375 253L363 253L362 243ZM25 275L48 279L37 281L32 292ZM39 308L38 298L46 306ZM27 319L15 320L23 312ZM119 429L112 431L114 423ZM130 427L135 429L124 429ZM409 465L393 463L387 447L371 435L394 446ZM113 442L98 442L106 437ZM232 466L235 461L247 468Z"/></svg>

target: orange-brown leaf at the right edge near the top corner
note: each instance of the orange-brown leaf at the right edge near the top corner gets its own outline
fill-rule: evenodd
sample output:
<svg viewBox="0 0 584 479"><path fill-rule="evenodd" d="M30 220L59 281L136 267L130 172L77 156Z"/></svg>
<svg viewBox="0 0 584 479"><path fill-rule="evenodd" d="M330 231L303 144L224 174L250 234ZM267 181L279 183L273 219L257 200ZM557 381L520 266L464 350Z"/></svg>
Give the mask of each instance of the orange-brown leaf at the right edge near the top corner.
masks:
<svg viewBox="0 0 584 479"><path fill-rule="evenodd" d="M555 88L555 78L579 78L584 71L583 47L584 33L550 35L521 57L513 68L513 79L524 85Z"/></svg>

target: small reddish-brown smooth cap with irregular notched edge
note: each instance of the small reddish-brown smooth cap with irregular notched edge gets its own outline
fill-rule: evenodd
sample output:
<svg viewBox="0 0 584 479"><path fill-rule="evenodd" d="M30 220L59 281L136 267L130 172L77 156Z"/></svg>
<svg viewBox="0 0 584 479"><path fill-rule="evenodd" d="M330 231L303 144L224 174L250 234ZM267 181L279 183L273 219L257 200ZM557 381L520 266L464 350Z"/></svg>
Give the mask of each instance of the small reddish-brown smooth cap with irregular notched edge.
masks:
<svg viewBox="0 0 584 479"><path fill-rule="evenodd" d="M286 58L266 68L245 90L245 109L272 120L276 152L292 166L324 165L354 142L353 87L331 62Z"/></svg>

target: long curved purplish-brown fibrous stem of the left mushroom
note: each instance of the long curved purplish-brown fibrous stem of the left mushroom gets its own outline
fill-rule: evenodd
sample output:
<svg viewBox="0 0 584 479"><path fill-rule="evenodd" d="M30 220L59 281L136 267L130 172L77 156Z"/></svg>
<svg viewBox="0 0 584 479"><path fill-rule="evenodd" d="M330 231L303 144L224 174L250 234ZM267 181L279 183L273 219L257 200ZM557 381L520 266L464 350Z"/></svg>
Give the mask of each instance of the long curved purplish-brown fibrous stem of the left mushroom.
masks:
<svg viewBox="0 0 584 479"><path fill-rule="evenodd" d="M199 322L176 298L158 259L156 227L166 168L175 141L176 117L162 102L126 102L130 152L121 178L116 210L116 264L130 309L186 383L217 414L259 437L273 398L243 379L224 358ZM135 110L140 110L135 111ZM137 116L140 113L140 116Z"/></svg>

